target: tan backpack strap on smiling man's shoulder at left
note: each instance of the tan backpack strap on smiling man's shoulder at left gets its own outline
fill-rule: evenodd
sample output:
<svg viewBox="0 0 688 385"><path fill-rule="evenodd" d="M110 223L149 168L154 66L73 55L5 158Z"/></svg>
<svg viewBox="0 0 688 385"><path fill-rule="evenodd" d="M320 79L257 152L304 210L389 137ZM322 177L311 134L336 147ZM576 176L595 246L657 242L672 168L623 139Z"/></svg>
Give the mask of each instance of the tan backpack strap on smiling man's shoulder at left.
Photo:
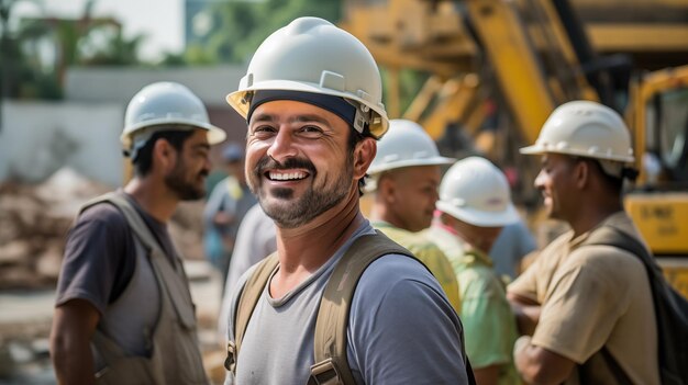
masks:
<svg viewBox="0 0 688 385"><path fill-rule="evenodd" d="M260 294L267 284L270 275L277 269L279 259L277 252L273 252L267 258L258 262L256 270L246 281L242 293L238 297L236 312L234 315L234 341L228 342L228 358L224 360L224 367L236 374L236 359L238 356L238 349L241 348L246 327L251 320L251 315L260 299Z"/></svg>

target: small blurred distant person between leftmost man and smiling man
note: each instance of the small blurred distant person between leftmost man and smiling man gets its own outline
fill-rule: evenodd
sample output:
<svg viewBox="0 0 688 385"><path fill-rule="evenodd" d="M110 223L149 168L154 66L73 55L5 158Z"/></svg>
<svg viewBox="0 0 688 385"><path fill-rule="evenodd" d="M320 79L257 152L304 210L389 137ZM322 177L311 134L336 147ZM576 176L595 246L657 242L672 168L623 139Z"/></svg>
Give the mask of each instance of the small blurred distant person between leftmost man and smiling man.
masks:
<svg viewBox="0 0 688 385"><path fill-rule="evenodd" d="M222 274L224 285L238 226L257 201L246 184L243 146L229 144L222 151L222 158L229 175L215 184L203 207L203 241L206 258Z"/></svg>

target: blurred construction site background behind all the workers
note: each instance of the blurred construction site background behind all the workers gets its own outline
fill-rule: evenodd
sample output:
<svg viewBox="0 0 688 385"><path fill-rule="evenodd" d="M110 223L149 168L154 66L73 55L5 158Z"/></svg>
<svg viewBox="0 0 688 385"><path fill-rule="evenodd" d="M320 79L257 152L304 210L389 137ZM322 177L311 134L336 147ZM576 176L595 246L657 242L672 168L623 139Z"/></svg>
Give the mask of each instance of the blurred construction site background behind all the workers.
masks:
<svg viewBox="0 0 688 385"><path fill-rule="evenodd" d="M500 166L540 246L562 229L539 217L535 168L515 149L563 101L624 113L643 191L684 194L639 211L659 224L644 235L655 253L679 257L675 284L688 293L688 72L676 76L688 65L688 0L0 0L0 384L55 383L47 336L65 235L82 203L127 178L119 136L131 97L184 83L228 143L242 143L245 122L224 97L259 43L302 15L370 48L390 117L422 123L444 155ZM633 90L652 81L665 82L661 94L634 106ZM221 152L208 191L225 175ZM203 258L202 206L185 203L170 231L220 381L221 285Z"/></svg>

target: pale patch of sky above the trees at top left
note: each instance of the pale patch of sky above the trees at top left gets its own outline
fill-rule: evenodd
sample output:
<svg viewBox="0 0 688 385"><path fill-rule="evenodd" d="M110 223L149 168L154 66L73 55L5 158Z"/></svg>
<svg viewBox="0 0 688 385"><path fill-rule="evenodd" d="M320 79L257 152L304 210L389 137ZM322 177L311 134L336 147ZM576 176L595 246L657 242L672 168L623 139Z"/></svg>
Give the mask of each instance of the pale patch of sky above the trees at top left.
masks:
<svg viewBox="0 0 688 385"><path fill-rule="evenodd" d="M20 16L78 18L86 0L15 0L12 19ZM113 16L125 36L146 35L141 55L157 59L184 48L184 0L97 0L95 16Z"/></svg>

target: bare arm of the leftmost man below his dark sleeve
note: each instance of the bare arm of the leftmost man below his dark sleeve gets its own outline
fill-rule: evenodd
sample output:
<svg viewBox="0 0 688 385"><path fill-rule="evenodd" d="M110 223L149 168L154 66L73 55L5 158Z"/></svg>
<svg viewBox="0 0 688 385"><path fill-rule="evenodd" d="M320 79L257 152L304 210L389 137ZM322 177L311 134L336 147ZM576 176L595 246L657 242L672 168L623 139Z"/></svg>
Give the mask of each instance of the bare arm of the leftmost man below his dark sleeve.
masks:
<svg viewBox="0 0 688 385"><path fill-rule="evenodd" d="M51 358L58 384L93 384L90 340L99 319L96 307L84 299L55 308Z"/></svg>

